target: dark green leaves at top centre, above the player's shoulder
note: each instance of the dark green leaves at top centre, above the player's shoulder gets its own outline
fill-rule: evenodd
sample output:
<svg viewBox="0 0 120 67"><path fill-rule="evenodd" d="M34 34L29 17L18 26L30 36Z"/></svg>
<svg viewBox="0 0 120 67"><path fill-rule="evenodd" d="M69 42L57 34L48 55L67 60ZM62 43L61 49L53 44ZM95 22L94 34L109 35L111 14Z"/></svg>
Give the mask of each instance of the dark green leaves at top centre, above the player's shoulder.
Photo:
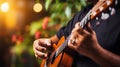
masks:
<svg viewBox="0 0 120 67"><path fill-rule="evenodd" d="M54 23L60 23L62 26L85 6L85 0L45 0L45 8L49 16Z"/></svg>

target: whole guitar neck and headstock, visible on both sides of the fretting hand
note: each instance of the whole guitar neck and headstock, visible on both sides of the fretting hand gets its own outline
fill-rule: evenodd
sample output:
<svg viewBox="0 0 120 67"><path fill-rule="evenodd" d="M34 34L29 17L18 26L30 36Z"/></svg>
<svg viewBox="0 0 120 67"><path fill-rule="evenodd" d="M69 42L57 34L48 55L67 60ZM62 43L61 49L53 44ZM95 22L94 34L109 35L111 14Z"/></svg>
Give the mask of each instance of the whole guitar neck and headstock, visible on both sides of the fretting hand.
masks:
<svg viewBox="0 0 120 67"><path fill-rule="evenodd" d="M86 14L86 16L81 20L80 26L84 29L85 25L95 18L100 12L105 10L112 4L113 0L99 0L97 4ZM68 45L69 36L66 40L61 44L61 46L57 49L55 53L55 57L57 57Z"/></svg>

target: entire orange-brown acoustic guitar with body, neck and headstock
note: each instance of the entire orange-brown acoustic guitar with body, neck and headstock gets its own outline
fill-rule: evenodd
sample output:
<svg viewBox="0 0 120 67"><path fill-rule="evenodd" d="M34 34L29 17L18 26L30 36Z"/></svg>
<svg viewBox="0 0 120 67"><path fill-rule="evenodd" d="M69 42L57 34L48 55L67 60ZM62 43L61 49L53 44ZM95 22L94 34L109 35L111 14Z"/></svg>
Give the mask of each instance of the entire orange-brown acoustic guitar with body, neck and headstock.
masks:
<svg viewBox="0 0 120 67"><path fill-rule="evenodd" d="M100 12L108 8L112 4L113 0L99 0L96 5L86 14L86 16L80 22L82 28L95 18ZM72 67L75 53L72 49L67 50L67 43L69 36L65 39L64 36L61 37L59 42L53 44L53 52L48 52L49 57L43 59L41 67Z"/></svg>

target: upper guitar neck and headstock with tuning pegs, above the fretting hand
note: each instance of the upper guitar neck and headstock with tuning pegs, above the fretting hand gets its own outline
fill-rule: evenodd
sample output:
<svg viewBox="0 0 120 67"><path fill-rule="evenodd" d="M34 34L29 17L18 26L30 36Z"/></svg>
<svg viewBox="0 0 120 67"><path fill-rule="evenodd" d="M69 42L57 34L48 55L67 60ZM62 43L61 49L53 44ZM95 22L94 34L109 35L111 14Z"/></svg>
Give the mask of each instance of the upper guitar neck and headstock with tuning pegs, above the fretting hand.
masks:
<svg viewBox="0 0 120 67"><path fill-rule="evenodd" d="M95 18L100 12L105 10L112 4L113 0L103 0L96 3L96 5L86 14L86 16L80 22L80 27L84 29L85 25Z"/></svg>

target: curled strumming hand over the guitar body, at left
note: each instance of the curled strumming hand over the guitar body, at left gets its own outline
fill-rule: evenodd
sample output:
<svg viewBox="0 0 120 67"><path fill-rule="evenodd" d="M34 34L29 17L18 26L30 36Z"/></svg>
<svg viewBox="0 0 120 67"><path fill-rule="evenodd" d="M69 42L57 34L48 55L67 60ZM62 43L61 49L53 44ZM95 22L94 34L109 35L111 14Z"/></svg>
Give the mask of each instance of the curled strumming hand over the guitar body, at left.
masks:
<svg viewBox="0 0 120 67"><path fill-rule="evenodd" d="M36 58L47 58L47 51L52 46L50 39L38 39L33 43L33 51Z"/></svg>

